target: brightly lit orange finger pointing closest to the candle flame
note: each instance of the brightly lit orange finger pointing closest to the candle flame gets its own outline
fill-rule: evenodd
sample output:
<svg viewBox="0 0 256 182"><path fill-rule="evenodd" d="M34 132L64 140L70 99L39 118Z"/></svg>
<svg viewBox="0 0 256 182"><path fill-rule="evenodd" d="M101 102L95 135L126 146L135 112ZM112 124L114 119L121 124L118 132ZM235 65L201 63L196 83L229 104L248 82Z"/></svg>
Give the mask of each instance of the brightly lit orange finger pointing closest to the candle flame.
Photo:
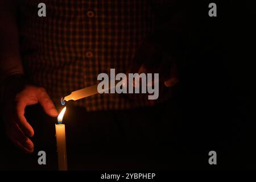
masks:
<svg viewBox="0 0 256 182"><path fill-rule="evenodd" d="M48 115L50 115L51 117L56 117L59 114L45 89L43 88L39 89L38 100L39 100L39 103L42 105L44 111L46 111Z"/></svg>

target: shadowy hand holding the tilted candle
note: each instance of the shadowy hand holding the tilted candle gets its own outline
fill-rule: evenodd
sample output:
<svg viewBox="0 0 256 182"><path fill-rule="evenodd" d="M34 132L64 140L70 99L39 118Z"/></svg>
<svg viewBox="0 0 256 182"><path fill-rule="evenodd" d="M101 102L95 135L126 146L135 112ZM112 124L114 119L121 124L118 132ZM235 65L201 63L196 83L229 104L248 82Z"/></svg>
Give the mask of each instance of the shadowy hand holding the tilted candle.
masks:
<svg viewBox="0 0 256 182"><path fill-rule="evenodd" d="M179 82L176 59L153 39L147 39L135 53L127 73L159 73L168 88Z"/></svg>

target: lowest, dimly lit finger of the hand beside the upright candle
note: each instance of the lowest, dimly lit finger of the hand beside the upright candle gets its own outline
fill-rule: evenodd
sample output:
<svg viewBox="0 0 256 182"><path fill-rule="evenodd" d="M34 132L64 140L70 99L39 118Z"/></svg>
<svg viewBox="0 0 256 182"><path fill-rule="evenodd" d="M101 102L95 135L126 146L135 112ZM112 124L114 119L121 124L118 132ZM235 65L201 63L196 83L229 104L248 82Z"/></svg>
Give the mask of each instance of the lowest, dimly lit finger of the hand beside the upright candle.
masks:
<svg viewBox="0 0 256 182"><path fill-rule="evenodd" d="M26 153L32 153L34 151L34 144L32 141L24 135L23 131L19 129L19 126L12 122L11 126L7 127L7 136L9 139L20 149Z"/></svg>

